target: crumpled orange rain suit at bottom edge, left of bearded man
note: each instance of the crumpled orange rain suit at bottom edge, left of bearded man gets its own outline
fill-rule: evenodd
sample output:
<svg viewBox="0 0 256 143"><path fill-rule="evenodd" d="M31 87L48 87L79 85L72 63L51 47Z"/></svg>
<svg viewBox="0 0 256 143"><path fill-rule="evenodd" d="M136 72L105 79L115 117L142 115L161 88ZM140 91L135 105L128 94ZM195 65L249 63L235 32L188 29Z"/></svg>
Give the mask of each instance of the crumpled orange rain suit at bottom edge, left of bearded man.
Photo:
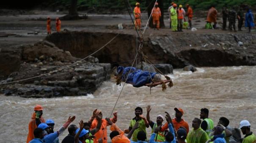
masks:
<svg viewBox="0 0 256 143"><path fill-rule="evenodd" d="M110 130L111 131L118 131L119 132L119 135L117 135L116 137L112 138L112 140L111 140L112 143L131 143L129 138L127 138L124 135L124 132L121 129L119 129L115 124L112 124L110 126Z"/></svg>

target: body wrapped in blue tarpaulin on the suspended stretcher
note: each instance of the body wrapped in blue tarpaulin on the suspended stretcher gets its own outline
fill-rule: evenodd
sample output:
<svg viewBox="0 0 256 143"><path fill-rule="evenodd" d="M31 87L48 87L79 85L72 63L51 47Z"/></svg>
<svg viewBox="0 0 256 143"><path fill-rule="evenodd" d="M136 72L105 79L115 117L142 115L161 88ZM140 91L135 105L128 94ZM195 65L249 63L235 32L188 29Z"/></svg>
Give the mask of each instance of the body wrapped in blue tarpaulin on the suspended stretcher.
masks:
<svg viewBox="0 0 256 143"><path fill-rule="evenodd" d="M131 72L129 73L130 70ZM126 83L132 84L134 87L141 87L146 84L161 81L161 75L159 73L150 73L149 71L138 70L135 67L119 66L115 76L117 78L117 85L120 84L121 81L125 82L128 77Z"/></svg>

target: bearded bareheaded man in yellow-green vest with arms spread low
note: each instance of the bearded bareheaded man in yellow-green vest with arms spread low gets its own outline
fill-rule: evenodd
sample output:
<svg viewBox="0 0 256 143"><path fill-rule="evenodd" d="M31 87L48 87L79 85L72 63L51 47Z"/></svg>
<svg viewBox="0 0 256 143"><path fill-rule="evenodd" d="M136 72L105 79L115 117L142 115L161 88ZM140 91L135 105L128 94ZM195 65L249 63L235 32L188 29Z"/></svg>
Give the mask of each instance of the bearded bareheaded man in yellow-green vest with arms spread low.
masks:
<svg viewBox="0 0 256 143"><path fill-rule="evenodd" d="M147 119L142 115L143 110L141 107L135 108L135 117L131 120L129 129L124 130L125 133L129 133L132 130L132 127L135 125L136 122L139 122L139 128L136 129L132 134L132 141L137 141L137 134L140 131L146 133L146 127L149 127L149 122Z"/></svg>

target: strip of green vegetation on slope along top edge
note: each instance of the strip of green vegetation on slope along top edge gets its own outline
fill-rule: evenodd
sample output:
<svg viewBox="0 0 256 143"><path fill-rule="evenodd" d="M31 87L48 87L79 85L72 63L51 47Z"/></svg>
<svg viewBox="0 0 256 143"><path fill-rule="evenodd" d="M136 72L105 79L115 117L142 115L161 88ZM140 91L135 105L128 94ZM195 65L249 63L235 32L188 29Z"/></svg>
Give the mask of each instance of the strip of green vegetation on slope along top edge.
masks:
<svg viewBox="0 0 256 143"><path fill-rule="evenodd" d="M140 2L141 10L146 10L146 0L129 0L132 7L135 6L136 2ZM154 0L148 0L154 1ZM172 0L163 0L164 8L168 9ZM194 11L204 10L207 11L210 6L215 5L217 10L220 10L224 5L228 7L239 6L239 5L249 5L251 8L255 8L256 0L173 0L175 3L186 5L189 3ZM51 8L58 8L60 10L69 9L71 0L47 0L45 5ZM77 2L78 11L93 11L97 13L106 12L126 12L126 7L124 0L78 0Z"/></svg>

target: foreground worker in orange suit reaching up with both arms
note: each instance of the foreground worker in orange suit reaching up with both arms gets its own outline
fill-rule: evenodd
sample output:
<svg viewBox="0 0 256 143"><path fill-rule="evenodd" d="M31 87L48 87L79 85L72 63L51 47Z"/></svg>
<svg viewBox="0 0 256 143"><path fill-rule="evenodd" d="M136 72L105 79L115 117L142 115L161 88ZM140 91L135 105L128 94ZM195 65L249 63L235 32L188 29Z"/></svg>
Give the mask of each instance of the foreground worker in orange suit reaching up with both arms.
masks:
<svg viewBox="0 0 256 143"><path fill-rule="evenodd" d="M93 116L91 117L92 123L91 123L91 129L94 129L96 125L98 124L97 119L95 118L96 114L98 114L100 111L97 109L94 110ZM114 117L109 119L105 118L102 119L101 128L98 132L94 134L96 138L94 138L94 143L98 143L99 139L102 139L102 143L107 143L107 126L111 125L111 122L116 123L117 121L117 112L113 113Z"/></svg>

